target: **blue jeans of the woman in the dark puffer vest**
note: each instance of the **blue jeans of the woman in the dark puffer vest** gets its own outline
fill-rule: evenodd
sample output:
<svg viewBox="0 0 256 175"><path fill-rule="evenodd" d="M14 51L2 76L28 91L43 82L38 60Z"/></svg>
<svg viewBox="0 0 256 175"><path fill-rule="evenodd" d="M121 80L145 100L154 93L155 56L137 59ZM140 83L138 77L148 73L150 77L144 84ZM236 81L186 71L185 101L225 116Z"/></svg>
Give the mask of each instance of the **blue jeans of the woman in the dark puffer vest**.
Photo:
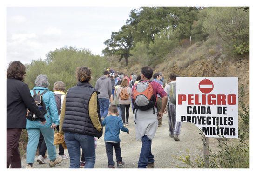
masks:
<svg viewBox="0 0 256 175"><path fill-rule="evenodd" d="M80 147L83 150L86 162L84 168L94 168L96 159L94 137L90 135L65 132L64 138L70 157L69 168L80 168Z"/></svg>

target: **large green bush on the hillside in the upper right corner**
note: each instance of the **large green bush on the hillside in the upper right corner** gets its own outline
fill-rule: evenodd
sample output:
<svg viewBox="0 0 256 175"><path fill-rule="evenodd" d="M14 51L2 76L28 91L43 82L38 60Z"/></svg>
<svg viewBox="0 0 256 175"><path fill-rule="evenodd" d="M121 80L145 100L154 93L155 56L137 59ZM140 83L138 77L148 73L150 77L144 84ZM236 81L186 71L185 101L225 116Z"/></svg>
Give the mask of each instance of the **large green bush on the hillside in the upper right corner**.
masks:
<svg viewBox="0 0 256 175"><path fill-rule="evenodd" d="M221 38L227 50L249 53L249 12L237 7L211 7L202 26L210 36Z"/></svg>

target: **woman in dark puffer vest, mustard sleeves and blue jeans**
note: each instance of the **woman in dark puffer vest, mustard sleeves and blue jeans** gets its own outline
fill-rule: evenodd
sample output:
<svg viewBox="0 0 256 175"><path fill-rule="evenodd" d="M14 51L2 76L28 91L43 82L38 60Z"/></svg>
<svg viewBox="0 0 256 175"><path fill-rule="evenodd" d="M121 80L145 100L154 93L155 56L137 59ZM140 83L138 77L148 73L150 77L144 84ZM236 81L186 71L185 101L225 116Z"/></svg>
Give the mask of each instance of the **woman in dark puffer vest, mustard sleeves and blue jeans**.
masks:
<svg viewBox="0 0 256 175"><path fill-rule="evenodd" d="M80 168L80 148L85 158L84 168L94 168L94 137L102 136L102 123L98 94L89 83L92 71L88 67L77 67L77 85L69 88L64 97L60 131L64 133L70 157L69 168Z"/></svg>

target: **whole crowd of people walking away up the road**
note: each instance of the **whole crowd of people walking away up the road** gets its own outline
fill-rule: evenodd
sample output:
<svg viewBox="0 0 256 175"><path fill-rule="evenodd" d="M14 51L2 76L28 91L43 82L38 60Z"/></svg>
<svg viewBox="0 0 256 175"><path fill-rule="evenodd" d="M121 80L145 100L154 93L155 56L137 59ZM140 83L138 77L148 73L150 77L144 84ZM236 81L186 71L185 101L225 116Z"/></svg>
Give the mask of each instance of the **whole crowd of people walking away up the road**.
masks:
<svg viewBox="0 0 256 175"><path fill-rule="evenodd" d="M23 81L26 67L13 61L7 69L7 168L21 168L19 138L22 129L28 133L26 168L33 168L36 161L45 163L45 152L49 166L70 158L69 168L81 167L81 149L84 168L94 168L96 138L103 135L108 157L108 168L123 166L120 148L120 130L129 134L129 108L135 114L136 140L142 141L138 168L154 168L151 152L152 139L162 124L166 106L169 116L169 136L179 141L181 123L176 122L176 75L170 82L163 81L161 73L153 75L151 67L142 67L136 76L106 70L97 80L95 88L90 84L92 71L88 67L76 68L77 84L65 93L62 81L54 83L54 92L49 90L46 75L38 75L35 87L29 90ZM154 78L152 80L152 77ZM56 156L54 129L63 135ZM64 154L64 145L68 155Z"/></svg>

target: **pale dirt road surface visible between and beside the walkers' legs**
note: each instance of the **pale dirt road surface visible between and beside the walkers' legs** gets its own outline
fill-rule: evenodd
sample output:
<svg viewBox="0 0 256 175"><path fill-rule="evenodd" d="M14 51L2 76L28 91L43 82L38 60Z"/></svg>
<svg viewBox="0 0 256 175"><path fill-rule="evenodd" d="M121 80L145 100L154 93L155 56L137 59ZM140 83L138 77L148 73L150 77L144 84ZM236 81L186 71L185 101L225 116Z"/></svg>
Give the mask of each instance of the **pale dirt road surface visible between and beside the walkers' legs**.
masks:
<svg viewBox="0 0 256 175"><path fill-rule="evenodd" d="M177 166L184 166L181 161L175 159L182 155L187 155L186 150L190 152L191 159L195 159L197 155L203 155L203 145L201 135L198 134L198 128L191 123L183 123L180 134L180 141L174 141L169 137L168 132L168 117L163 116L162 126L157 128L154 139L152 140L152 154L155 156L155 168L177 168ZM125 165L123 168L137 168L139 155L141 151L141 141L135 140L135 123L133 122L133 114L130 113L129 125L127 128L130 130L130 134L121 132L121 151L123 161ZM57 149L57 153L58 153ZM68 154L65 150L65 154ZM114 153L114 162L115 153ZM39 165L34 162L34 168L50 168L47 164ZM22 159L22 166L26 166L26 160ZM69 158L63 160L61 164L54 168L69 168ZM103 136L97 140L96 149L96 163L94 168L108 168L108 160L106 155L105 143L104 143L104 131Z"/></svg>

